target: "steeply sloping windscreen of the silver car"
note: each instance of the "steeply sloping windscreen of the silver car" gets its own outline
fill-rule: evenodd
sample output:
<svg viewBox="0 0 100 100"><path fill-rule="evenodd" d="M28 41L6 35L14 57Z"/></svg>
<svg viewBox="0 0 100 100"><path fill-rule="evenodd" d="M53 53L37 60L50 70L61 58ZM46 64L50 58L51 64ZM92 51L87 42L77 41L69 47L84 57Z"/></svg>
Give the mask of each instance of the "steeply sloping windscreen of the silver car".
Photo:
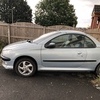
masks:
<svg viewBox="0 0 100 100"><path fill-rule="evenodd" d="M50 33L46 33L46 34L43 34L41 35L40 37L36 38L35 40L33 40L33 42L35 43L39 43L45 39L47 39L48 37L52 36L53 34L55 34L57 32L50 32Z"/></svg>

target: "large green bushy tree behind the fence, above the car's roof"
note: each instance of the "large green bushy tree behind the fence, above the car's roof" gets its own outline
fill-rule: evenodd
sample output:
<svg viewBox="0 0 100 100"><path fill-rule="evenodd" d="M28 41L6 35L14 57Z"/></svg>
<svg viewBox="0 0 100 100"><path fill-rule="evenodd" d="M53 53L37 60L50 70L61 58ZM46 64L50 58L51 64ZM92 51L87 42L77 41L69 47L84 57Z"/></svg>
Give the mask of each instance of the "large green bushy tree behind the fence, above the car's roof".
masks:
<svg viewBox="0 0 100 100"><path fill-rule="evenodd" d="M36 5L35 23L43 26L76 26L77 17L69 0L41 0Z"/></svg>

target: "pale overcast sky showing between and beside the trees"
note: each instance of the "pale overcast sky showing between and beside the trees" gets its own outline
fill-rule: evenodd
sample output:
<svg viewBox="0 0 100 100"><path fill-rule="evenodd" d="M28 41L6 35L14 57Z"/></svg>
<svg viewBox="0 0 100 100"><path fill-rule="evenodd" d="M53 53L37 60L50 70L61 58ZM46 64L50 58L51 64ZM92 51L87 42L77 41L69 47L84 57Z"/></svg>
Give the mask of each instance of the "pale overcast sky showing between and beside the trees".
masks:
<svg viewBox="0 0 100 100"><path fill-rule="evenodd" d="M27 0L28 5L33 10L33 14L39 1L41 0ZM77 27L90 27L94 5L100 5L100 0L70 0L70 4L74 6L75 14L78 17Z"/></svg>

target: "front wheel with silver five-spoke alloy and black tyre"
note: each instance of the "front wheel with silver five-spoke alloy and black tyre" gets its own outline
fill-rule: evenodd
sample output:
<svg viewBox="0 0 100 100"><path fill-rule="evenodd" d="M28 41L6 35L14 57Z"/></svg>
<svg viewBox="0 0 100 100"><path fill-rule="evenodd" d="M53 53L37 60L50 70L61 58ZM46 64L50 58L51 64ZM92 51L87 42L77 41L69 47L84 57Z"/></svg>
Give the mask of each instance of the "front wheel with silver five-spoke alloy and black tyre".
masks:
<svg viewBox="0 0 100 100"><path fill-rule="evenodd" d="M23 77L32 76L36 72L36 64L30 58L21 58L15 63L15 72Z"/></svg>

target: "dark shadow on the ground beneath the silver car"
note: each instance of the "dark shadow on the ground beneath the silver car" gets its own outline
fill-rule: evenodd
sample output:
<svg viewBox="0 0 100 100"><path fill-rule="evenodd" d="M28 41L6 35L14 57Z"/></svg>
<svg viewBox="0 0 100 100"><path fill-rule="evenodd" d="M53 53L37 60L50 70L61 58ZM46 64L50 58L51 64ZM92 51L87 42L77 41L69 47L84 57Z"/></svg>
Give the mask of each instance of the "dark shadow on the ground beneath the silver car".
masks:
<svg viewBox="0 0 100 100"><path fill-rule="evenodd" d="M13 70L6 70L2 68L3 72L7 76L11 77L22 77L15 73ZM34 76L28 77L28 78L38 78L38 77L47 77L47 78L67 78L67 77L73 77L73 78L84 78L84 79L94 79L96 78L96 75L93 72L61 72L61 71L38 71L35 73ZM23 77L22 77L23 78ZM25 78L25 77L24 77Z"/></svg>

